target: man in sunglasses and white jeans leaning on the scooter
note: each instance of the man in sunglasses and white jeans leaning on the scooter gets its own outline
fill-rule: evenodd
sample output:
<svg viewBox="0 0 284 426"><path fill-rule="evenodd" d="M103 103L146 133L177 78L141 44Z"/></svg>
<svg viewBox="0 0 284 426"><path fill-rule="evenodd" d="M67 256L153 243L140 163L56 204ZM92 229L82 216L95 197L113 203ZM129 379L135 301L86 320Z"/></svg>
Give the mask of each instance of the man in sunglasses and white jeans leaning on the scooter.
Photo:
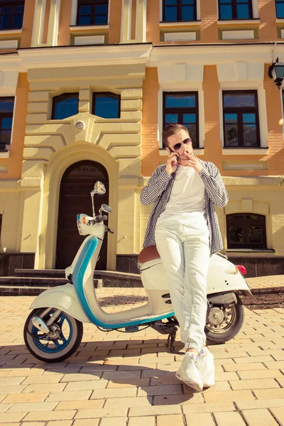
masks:
<svg viewBox="0 0 284 426"><path fill-rule="evenodd" d="M176 377L197 391L214 385L214 358L205 346L209 256L222 249L214 205L228 195L213 163L192 153L185 126L163 131L168 160L151 176L142 204L154 203L143 247L156 244L168 278L170 297L180 324L185 357Z"/></svg>

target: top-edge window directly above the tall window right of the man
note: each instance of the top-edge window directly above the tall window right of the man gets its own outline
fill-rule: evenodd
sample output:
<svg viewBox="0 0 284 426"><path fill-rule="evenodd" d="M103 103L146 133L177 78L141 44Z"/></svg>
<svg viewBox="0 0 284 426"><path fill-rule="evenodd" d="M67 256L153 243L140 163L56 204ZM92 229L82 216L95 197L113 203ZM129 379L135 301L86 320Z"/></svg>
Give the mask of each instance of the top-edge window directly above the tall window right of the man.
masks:
<svg viewBox="0 0 284 426"><path fill-rule="evenodd" d="M219 19L252 19L251 0L219 0Z"/></svg>

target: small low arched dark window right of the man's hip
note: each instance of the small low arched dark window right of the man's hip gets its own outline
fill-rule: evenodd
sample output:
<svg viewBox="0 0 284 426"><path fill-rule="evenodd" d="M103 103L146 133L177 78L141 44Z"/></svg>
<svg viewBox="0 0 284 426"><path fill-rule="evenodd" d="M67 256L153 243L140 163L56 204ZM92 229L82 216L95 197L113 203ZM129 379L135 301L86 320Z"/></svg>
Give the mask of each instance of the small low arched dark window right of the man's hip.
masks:
<svg viewBox="0 0 284 426"><path fill-rule="evenodd" d="M266 249L266 217L262 214L228 214L228 249Z"/></svg>

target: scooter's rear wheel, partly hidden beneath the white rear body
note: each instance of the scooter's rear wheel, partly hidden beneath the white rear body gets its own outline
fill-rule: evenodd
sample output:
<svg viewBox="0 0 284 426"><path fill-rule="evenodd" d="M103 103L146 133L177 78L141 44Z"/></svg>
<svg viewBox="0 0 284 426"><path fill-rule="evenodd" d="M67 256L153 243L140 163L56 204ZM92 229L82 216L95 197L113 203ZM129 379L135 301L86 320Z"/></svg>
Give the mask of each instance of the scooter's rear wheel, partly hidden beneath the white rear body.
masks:
<svg viewBox="0 0 284 426"><path fill-rule="evenodd" d="M207 342L213 344L222 344L233 339L239 333L244 323L244 306L241 299L236 295L236 305L229 308L222 306L213 306L212 313L215 312L217 319L216 324L209 321L210 310L207 312L207 324L205 326L205 334Z"/></svg>

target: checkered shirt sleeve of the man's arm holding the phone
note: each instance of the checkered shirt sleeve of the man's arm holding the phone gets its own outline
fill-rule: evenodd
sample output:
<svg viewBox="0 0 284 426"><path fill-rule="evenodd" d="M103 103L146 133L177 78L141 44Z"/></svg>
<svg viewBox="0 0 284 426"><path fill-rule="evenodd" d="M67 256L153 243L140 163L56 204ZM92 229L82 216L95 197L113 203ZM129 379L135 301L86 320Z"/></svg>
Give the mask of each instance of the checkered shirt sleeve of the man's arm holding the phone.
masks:
<svg viewBox="0 0 284 426"><path fill-rule="evenodd" d="M143 187L141 192L140 201L141 204L148 206L155 202L160 197L162 192L168 186L168 182L172 179L165 169L156 169L151 178L149 179L148 185Z"/></svg>

